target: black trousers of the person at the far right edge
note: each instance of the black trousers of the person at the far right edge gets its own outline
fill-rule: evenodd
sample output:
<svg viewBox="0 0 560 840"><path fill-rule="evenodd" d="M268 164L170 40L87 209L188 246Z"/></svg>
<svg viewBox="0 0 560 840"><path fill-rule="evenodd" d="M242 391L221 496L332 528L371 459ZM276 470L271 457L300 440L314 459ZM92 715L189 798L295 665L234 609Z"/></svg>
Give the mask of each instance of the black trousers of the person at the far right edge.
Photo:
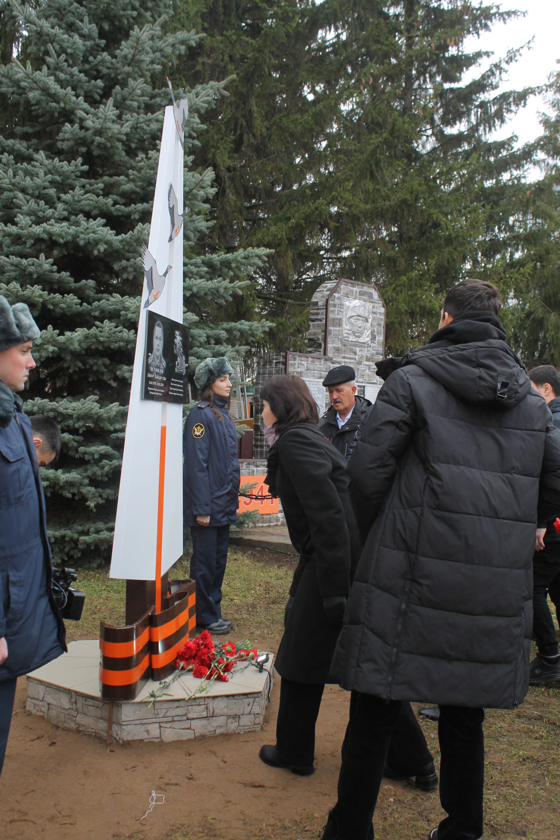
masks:
<svg viewBox="0 0 560 840"><path fill-rule="evenodd" d="M560 587L560 543L552 543L533 557L533 636L542 656L557 656L556 628L547 602L547 594L557 597Z"/></svg>

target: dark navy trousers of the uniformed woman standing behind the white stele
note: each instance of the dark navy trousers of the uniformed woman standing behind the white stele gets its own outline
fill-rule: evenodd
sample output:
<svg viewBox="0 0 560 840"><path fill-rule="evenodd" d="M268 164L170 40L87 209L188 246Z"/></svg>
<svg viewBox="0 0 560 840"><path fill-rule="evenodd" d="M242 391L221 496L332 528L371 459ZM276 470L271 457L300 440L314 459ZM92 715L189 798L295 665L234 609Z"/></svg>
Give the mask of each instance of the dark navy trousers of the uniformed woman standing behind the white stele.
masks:
<svg viewBox="0 0 560 840"><path fill-rule="evenodd" d="M222 617L222 583L228 561L229 525L191 526L191 580L196 583L196 624L207 627Z"/></svg>

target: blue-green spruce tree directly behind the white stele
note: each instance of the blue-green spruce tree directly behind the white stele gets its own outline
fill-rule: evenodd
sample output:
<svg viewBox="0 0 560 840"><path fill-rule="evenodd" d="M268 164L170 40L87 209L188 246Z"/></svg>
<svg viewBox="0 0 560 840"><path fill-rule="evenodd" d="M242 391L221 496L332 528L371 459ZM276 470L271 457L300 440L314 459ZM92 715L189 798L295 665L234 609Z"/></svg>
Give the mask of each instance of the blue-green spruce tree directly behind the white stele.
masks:
<svg viewBox="0 0 560 840"><path fill-rule="evenodd" d="M63 431L63 463L43 479L55 559L71 563L102 563L113 541L165 76L200 38L166 34L169 17L165 2L0 2L0 294L28 303L43 330L23 396ZM266 328L247 279L266 251L197 245L213 174L191 171L189 153L223 93L224 82L188 92L191 371L207 355L239 357Z"/></svg>

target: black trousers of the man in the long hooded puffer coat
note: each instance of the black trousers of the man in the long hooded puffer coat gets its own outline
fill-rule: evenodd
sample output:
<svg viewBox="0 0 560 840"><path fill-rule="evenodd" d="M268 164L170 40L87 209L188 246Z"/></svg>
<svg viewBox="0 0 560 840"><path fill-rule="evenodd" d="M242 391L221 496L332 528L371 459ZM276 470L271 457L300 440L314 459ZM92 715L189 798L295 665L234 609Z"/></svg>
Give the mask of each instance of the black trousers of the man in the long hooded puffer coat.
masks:
<svg viewBox="0 0 560 840"><path fill-rule="evenodd" d="M323 840L373 840L379 786L402 705L352 692L338 802L328 815ZM440 706L440 797L448 816L439 824L437 840L482 837L483 721L482 709Z"/></svg>

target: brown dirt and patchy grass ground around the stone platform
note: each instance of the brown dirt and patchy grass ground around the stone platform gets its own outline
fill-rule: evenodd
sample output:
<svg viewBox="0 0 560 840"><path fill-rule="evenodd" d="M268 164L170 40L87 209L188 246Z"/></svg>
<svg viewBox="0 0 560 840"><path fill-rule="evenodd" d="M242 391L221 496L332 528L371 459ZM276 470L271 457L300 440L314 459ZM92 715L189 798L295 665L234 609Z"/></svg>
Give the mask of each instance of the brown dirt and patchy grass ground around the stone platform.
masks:
<svg viewBox="0 0 560 840"><path fill-rule="evenodd" d="M274 566L279 586L293 567L293 559L286 555L251 552L245 560L254 564L257 579ZM262 627L251 619L247 604L236 597L232 601L235 609L228 610L235 620L232 638L259 636L259 648L264 649L267 643L275 650L280 623L275 619L274 626L259 632ZM224 604L227 602L226 596ZM275 743L279 687L280 680L276 680L262 732L107 748L100 739L66 732L29 715L25 711L25 680L19 680L0 782L0 837L321 837L336 796L348 694L337 686L327 687L317 725L317 772L301 779L265 766L257 755L261 744ZM422 725L437 761L437 728L429 722ZM515 712L490 711L485 732L485 836L556 840L560 837L560 687L531 689L526 703ZM153 790L165 795L165 803L154 806L142 820ZM375 813L375 837L425 840L441 817L437 791L425 794L408 783L384 782Z"/></svg>

